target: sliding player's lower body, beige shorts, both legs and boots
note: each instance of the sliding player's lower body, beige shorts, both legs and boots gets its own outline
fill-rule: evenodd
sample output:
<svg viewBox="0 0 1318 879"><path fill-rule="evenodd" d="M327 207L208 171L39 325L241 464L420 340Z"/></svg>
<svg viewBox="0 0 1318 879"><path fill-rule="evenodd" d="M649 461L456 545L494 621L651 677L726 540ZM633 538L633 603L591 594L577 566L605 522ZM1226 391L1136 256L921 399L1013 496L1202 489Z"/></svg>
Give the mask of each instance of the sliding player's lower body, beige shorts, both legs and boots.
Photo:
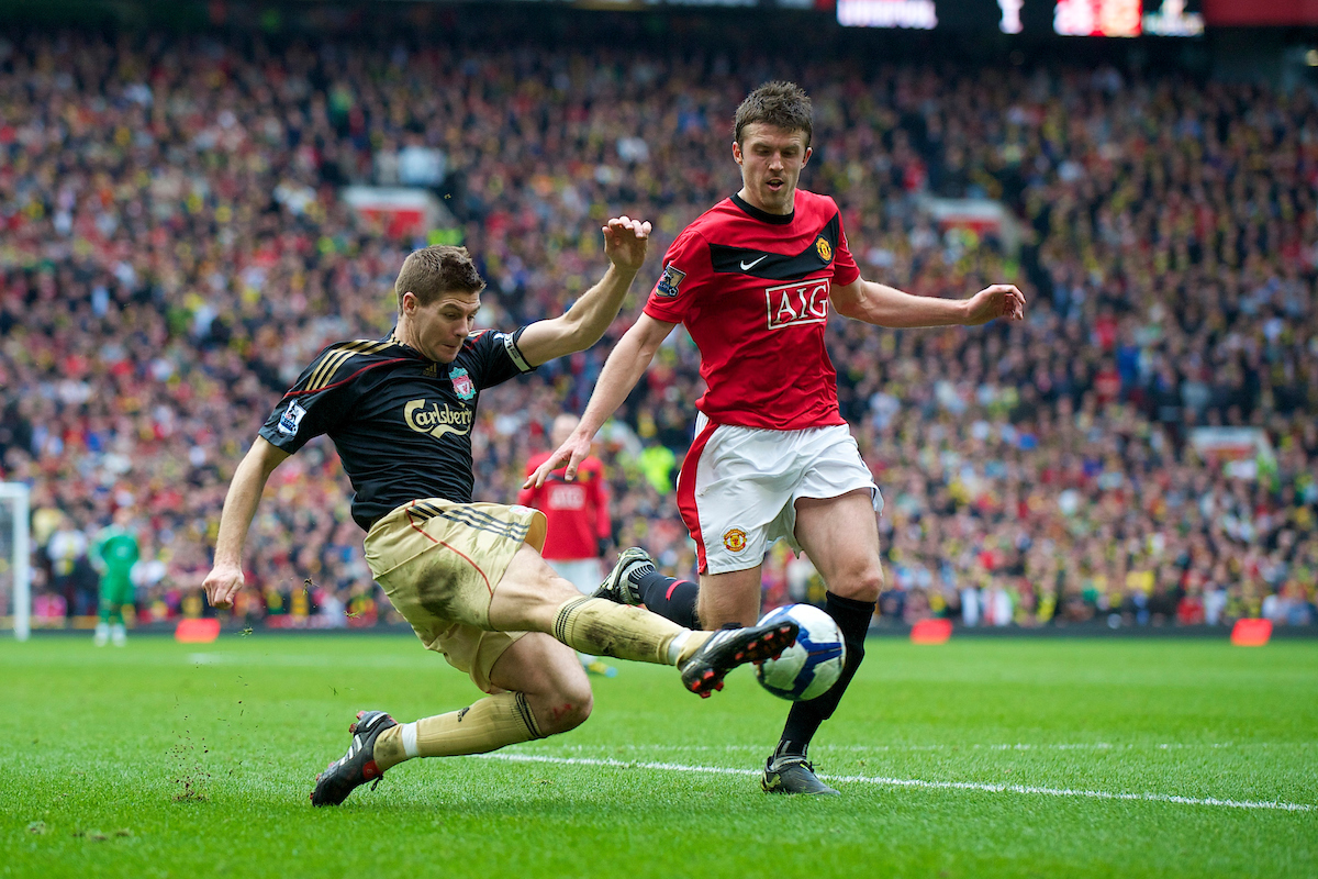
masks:
<svg viewBox="0 0 1318 879"><path fill-rule="evenodd" d="M312 804L337 805L409 756L484 752L576 726L589 714L590 691L567 647L677 666L683 684L708 696L731 668L776 655L796 638L795 626L692 631L583 596L540 557L543 525L526 507L438 499L376 523L366 535L376 581L422 643L490 696L403 726L385 712L360 712L348 752L316 778ZM558 642L567 647L550 646ZM505 684L514 692L501 692Z"/></svg>

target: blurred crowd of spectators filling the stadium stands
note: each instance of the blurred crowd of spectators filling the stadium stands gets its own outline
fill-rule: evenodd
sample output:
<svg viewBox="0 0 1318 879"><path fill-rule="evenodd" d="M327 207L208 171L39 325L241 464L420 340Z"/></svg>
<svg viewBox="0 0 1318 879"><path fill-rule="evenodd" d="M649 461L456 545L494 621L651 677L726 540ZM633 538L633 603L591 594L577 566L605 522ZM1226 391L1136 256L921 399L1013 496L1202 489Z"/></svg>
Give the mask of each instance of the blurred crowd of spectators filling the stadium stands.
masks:
<svg viewBox="0 0 1318 879"><path fill-rule="evenodd" d="M780 63L779 63L780 62ZM228 480L327 343L378 337L419 240L340 200L419 177L489 281L481 320L552 316L602 273L600 221L655 224L594 349L482 399L480 499L580 411L684 224L739 187L737 103L815 101L805 188L866 278L965 297L1017 283L1012 326L834 318L844 415L884 493L883 622L1314 621L1318 105L1306 90L1115 67L770 67L753 50L463 50L414 42L0 37L0 478L33 492L38 623L94 613L87 535L130 507L138 619L210 613ZM929 198L992 199L1002 227ZM695 552L672 480L701 380L675 333L600 438L618 547ZM1240 459L1201 428L1255 428ZM390 618L322 439L275 470L236 614ZM818 598L776 547L768 602Z"/></svg>

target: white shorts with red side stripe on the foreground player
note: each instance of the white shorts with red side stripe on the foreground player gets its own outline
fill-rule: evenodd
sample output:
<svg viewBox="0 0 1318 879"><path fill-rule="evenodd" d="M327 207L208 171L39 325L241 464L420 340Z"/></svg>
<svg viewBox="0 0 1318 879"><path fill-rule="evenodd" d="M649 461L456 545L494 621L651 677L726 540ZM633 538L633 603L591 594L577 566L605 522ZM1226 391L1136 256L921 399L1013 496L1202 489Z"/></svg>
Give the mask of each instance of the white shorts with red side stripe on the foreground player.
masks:
<svg viewBox="0 0 1318 879"><path fill-rule="evenodd" d="M869 489L874 511L883 496L845 424L800 431L710 424L696 418L696 440L677 474L677 509L701 573L746 571L783 538L793 551L796 499L833 498Z"/></svg>

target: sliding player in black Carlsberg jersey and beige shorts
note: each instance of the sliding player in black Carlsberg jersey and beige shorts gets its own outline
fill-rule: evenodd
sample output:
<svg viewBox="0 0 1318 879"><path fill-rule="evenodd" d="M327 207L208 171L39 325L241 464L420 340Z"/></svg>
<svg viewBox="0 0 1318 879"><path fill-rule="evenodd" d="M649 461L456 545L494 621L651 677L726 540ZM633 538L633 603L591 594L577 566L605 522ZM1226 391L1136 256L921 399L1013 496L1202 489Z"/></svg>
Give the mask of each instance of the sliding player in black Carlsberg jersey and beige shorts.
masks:
<svg viewBox="0 0 1318 879"><path fill-rule="evenodd" d="M203 586L216 608L243 588L243 543L275 467L327 434L356 496L377 582L426 647L489 693L456 712L397 723L360 712L348 752L316 776L315 805L413 756L480 754L564 733L590 713L575 650L676 666L692 692L776 655L795 626L693 631L647 610L583 597L544 563L546 521L523 506L472 502L480 391L589 348L618 314L646 256L650 224L604 227L609 269L568 311L517 332L473 332L485 282L467 250L416 250L398 274L398 324L385 339L330 345L274 409L239 464Z"/></svg>

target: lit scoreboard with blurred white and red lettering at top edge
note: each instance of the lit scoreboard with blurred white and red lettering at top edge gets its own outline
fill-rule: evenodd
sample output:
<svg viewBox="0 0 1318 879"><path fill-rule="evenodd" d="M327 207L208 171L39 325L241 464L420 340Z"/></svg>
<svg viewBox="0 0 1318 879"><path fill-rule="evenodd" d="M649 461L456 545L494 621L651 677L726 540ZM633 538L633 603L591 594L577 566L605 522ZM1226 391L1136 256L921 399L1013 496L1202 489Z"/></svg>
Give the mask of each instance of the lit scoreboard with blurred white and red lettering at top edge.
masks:
<svg viewBox="0 0 1318 879"><path fill-rule="evenodd" d="M855 28L985 30L1065 37L1198 37L1201 0L837 0Z"/></svg>

